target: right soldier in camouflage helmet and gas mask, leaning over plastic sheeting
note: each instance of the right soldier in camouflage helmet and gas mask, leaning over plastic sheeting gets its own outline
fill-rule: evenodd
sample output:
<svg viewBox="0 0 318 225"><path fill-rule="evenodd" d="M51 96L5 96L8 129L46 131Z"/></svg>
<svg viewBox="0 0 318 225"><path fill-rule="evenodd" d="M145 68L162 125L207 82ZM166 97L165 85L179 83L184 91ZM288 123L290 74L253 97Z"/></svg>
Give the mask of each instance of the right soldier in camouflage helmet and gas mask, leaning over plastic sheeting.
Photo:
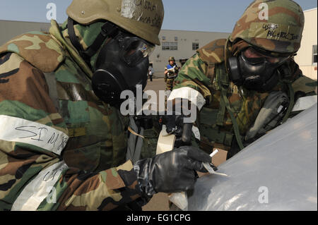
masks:
<svg viewBox="0 0 318 225"><path fill-rule="evenodd" d="M199 109L195 144L231 157L304 110L294 105L317 102L317 82L293 61L304 20L294 1L253 1L228 39L207 44L187 61L169 100L189 99ZM272 116L264 116L266 110Z"/></svg>

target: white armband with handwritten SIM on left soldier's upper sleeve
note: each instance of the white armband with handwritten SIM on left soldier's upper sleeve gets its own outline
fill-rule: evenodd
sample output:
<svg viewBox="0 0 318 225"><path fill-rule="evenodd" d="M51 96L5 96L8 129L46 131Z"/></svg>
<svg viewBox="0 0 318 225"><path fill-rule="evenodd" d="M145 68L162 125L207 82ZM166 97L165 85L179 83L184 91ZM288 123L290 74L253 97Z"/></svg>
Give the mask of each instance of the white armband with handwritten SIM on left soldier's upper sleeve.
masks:
<svg viewBox="0 0 318 225"><path fill-rule="evenodd" d="M0 115L0 140L22 142L61 154L69 136L41 123Z"/></svg>

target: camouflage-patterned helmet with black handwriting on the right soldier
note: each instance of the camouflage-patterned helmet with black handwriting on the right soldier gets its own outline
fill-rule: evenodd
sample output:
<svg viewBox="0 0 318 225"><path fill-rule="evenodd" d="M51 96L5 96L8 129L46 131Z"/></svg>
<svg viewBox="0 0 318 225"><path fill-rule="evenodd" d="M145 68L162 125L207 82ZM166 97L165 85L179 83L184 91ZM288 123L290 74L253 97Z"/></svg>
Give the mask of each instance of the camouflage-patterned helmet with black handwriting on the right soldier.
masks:
<svg viewBox="0 0 318 225"><path fill-rule="evenodd" d="M294 54L300 48L305 16L291 0L256 0L237 21L230 42L239 39L265 51Z"/></svg>

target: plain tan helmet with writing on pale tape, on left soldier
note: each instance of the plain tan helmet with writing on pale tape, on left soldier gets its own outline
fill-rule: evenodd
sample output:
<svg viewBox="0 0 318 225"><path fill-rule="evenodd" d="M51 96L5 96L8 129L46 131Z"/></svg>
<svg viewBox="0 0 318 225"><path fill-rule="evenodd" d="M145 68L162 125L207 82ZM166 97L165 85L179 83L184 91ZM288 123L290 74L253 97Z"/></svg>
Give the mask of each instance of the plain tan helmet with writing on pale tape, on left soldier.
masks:
<svg viewBox="0 0 318 225"><path fill-rule="evenodd" d="M152 44L160 45L158 35L164 16L162 0L73 0L66 13L83 25L108 20Z"/></svg>

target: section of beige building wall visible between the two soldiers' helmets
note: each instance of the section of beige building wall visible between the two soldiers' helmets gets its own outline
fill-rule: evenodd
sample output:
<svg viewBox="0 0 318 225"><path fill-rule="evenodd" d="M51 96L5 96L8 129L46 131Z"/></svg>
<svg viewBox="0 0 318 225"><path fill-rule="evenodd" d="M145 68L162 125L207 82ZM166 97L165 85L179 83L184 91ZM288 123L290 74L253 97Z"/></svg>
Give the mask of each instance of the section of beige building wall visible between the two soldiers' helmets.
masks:
<svg viewBox="0 0 318 225"><path fill-rule="evenodd" d="M198 43L199 48L201 48L215 39L228 38L229 36L230 33L225 32L161 30L159 34L161 46L157 46L150 57L155 78L164 77L165 67L170 56L174 56L177 64L181 66L180 59L189 59L196 53L196 50L192 49L193 43ZM177 42L177 50L163 50L165 42Z"/></svg>

